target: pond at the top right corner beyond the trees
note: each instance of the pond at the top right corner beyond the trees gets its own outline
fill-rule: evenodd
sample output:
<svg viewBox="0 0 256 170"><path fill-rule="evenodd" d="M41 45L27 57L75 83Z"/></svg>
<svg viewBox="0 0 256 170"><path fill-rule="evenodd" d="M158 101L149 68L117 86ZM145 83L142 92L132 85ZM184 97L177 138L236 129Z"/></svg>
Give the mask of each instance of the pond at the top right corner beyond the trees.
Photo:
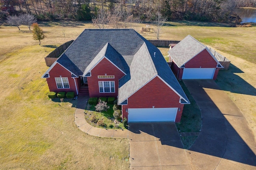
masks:
<svg viewBox="0 0 256 170"><path fill-rule="evenodd" d="M236 14L242 19L242 22L256 23L256 8L236 8Z"/></svg>

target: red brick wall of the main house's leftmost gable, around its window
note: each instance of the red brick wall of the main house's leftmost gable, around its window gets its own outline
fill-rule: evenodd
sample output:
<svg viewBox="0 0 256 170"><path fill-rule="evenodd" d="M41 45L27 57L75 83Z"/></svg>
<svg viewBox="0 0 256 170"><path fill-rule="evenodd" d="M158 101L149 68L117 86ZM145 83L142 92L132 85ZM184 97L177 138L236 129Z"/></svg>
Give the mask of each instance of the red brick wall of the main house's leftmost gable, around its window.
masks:
<svg viewBox="0 0 256 170"><path fill-rule="evenodd" d="M74 83L74 79L71 78L71 73L65 69L64 67L62 67L60 64L56 64L54 65L54 67L51 69L51 71L49 72L50 77L46 79L47 83L48 83L48 87L50 91L54 91L54 92L61 92L61 91L65 91L65 92L75 92L76 94L76 86ZM55 77L68 77L68 83L69 83L69 87L70 89L58 89L57 85L56 85L56 81L55 81Z"/></svg>

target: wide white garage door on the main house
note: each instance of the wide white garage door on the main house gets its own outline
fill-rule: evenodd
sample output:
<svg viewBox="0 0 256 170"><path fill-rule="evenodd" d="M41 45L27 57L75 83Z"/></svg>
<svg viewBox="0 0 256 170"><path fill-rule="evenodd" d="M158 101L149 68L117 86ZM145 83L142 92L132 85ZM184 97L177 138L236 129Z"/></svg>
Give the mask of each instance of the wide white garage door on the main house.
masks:
<svg viewBox="0 0 256 170"><path fill-rule="evenodd" d="M128 122L174 122L178 108L128 109Z"/></svg>

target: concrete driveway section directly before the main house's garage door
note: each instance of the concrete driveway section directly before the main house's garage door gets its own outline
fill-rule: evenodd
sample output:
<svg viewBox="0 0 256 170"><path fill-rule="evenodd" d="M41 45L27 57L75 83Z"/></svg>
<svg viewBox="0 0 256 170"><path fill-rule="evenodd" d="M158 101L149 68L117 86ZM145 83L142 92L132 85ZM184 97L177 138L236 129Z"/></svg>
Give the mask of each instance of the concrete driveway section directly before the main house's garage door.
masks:
<svg viewBox="0 0 256 170"><path fill-rule="evenodd" d="M129 123L130 169L190 170L175 123Z"/></svg>

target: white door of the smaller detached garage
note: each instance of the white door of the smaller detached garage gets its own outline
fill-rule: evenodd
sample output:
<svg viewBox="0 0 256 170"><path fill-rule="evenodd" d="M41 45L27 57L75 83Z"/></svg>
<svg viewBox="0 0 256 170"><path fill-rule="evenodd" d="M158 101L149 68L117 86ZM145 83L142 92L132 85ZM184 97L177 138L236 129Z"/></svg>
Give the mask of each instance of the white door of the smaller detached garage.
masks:
<svg viewBox="0 0 256 170"><path fill-rule="evenodd" d="M182 79L212 79L215 68L184 68Z"/></svg>

